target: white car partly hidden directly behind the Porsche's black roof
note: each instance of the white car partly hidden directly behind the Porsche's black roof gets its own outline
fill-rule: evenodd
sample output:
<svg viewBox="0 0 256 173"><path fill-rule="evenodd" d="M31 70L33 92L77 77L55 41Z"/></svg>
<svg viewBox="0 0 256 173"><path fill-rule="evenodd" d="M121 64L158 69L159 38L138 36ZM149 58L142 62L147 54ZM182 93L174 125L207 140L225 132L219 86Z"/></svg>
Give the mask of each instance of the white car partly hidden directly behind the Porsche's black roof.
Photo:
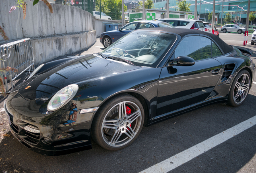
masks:
<svg viewBox="0 0 256 173"><path fill-rule="evenodd" d="M163 18L160 21L167 22L175 28L187 28L204 31L204 24L201 20L192 20L184 18Z"/></svg>

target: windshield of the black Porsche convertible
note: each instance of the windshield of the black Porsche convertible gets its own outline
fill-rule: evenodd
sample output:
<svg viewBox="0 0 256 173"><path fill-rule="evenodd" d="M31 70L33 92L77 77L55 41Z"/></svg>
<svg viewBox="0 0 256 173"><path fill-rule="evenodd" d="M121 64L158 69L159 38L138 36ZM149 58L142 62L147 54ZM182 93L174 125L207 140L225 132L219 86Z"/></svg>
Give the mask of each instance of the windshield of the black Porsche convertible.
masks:
<svg viewBox="0 0 256 173"><path fill-rule="evenodd" d="M129 60L137 66L157 67L176 39L172 34L136 30L101 53L107 57Z"/></svg>

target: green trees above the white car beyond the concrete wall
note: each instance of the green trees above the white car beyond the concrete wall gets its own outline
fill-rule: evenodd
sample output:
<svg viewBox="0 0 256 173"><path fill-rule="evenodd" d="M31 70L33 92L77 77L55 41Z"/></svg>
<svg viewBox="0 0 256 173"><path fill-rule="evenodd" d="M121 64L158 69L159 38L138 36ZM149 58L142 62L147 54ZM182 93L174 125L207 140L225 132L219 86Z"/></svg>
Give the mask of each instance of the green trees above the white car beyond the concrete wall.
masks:
<svg viewBox="0 0 256 173"><path fill-rule="evenodd" d="M99 11L99 0L96 0L96 11ZM124 5L124 11L127 7ZM122 0L101 0L101 12L107 14L112 19L122 19Z"/></svg>

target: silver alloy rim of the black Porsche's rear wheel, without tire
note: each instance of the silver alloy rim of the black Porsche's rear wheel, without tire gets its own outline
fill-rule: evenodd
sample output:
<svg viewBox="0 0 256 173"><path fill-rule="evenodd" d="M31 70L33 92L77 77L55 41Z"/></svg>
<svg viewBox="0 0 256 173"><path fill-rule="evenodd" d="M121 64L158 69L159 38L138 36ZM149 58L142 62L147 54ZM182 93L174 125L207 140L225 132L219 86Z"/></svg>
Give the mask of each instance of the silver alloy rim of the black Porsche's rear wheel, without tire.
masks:
<svg viewBox="0 0 256 173"><path fill-rule="evenodd" d="M236 104L242 103L246 98L250 87L250 79L248 74L242 74L235 82L233 91L233 99Z"/></svg>

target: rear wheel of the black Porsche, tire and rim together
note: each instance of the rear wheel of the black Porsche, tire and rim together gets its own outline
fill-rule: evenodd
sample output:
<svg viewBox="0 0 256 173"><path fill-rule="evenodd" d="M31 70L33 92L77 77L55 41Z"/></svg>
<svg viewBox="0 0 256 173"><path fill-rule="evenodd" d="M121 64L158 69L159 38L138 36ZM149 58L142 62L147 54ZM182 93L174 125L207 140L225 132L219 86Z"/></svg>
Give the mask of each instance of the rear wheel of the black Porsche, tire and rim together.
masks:
<svg viewBox="0 0 256 173"><path fill-rule="evenodd" d="M242 105L250 90L251 78L247 70L241 70L234 78L229 91L227 104L233 107Z"/></svg>

